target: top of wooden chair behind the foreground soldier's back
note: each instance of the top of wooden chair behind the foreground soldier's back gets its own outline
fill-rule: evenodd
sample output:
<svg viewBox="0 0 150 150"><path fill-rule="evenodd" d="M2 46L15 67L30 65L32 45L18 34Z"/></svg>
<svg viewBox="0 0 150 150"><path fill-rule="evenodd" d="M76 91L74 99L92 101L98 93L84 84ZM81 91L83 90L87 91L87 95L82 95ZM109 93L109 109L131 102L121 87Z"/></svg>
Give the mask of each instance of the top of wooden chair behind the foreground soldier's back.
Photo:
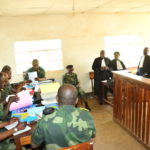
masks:
<svg viewBox="0 0 150 150"><path fill-rule="evenodd" d="M70 147L65 147L60 150L93 150L93 142L85 142Z"/></svg>

